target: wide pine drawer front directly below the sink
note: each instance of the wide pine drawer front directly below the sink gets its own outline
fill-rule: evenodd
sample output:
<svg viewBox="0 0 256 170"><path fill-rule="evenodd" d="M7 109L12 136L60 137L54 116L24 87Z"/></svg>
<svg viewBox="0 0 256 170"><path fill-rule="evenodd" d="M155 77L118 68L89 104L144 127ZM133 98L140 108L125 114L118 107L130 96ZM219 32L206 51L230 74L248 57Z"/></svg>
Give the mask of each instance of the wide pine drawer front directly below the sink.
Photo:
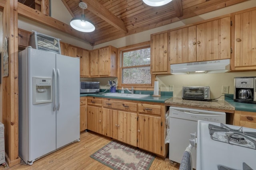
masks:
<svg viewBox="0 0 256 170"><path fill-rule="evenodd" d="M137 104L130 102L118 102L111 100L103 100L103 107L111 108L111 109L121 109L125 111L137 111Z"/></svg>

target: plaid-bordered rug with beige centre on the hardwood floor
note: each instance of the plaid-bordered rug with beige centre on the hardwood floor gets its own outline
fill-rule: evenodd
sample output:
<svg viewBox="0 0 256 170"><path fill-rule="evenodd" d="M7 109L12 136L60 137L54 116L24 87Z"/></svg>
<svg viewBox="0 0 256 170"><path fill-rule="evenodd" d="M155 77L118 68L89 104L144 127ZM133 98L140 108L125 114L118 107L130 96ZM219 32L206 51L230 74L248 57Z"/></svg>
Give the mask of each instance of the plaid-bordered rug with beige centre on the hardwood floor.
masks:
<svg viewBox="0 0 256 170"><path fill-rule="evenodd" d="M111 141L90 156L114 170L148 170L155 158L143 150Z"/></svg>

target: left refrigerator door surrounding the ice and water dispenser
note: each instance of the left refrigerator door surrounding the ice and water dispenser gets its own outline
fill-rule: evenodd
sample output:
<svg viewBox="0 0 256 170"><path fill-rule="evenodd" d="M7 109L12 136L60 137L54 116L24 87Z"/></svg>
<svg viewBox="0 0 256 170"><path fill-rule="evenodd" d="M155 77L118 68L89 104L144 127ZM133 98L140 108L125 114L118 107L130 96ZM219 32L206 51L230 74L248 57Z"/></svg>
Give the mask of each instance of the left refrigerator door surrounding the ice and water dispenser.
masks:
<svg viewBox="0 0 256 170"><path fill-rule="evenodd" d="M24 67L26 71L24 70L22 78L26 79L27 76L28 96L26 101L19 102L22 102L23 107L26 107L25 105L28 107L27 111L22 112L22 116L27 114L29 162L56 149L56 112L52 109L53 103L34 105L32 100L32 77L52 77L55 68L55 54L32 48L26 50L27 66ZM19 123L26 124L26 122Z"/></svg>

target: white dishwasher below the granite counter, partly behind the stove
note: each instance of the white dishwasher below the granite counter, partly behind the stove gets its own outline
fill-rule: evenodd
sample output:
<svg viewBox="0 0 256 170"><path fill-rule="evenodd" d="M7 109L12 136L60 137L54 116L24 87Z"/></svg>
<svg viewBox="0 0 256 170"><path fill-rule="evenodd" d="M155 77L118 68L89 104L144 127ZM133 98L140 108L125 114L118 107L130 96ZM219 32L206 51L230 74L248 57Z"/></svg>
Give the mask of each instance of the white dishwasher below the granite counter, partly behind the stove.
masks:
<svg viewBox="0 0 256 170"><path fill-rule="evenodd" d="M226 123L226 113L183 107L170 107L169 159L180 163L188 147L190 133L197 132L197 121ZM210 154L210 153L209 153ZM192 165L196 168L196 150L191 152Z"/></svg>

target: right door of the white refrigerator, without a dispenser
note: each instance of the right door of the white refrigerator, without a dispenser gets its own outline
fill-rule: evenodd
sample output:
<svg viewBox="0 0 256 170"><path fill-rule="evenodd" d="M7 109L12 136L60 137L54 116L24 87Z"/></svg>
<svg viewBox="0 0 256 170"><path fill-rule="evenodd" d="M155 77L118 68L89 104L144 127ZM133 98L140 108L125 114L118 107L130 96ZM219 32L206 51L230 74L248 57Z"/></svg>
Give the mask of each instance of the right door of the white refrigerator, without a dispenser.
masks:
<svg viewBox="0 0 256 170"><path fill-rule="evenodd" d="M80 139L80 59L56 55L56 148Z"/></svg>

